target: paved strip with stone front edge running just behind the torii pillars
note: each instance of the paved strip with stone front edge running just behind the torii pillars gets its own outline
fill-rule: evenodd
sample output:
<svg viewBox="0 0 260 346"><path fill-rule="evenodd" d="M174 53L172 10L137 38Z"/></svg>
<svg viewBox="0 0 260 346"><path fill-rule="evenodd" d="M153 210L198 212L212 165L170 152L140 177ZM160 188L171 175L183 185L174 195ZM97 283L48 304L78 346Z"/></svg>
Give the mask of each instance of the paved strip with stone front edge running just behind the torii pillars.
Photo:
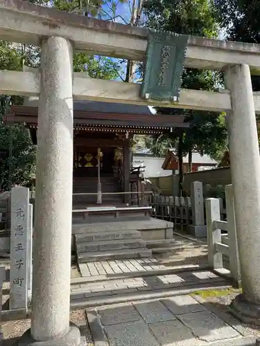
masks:
<svg viewBox="0 0 260 346"><path fill-rule="evenodd" d="M81 278L83 279L83 278ZM71 284L71 307L96 307L115 302L180 295L207 289L225 289L230 283L210 271L143 275Z"/></svg>

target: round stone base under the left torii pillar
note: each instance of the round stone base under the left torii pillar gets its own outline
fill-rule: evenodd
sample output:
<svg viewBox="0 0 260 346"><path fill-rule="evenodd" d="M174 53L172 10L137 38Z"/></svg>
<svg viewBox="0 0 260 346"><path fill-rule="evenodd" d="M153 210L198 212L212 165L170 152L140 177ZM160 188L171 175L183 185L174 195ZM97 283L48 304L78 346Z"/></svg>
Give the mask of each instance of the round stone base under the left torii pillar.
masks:
<svg viewBox="0 0 260 346"><path fill-rule="evenodd" d="M87 341L85 336L80 336L78 327L71 325L69 332L62 338L46 341L34 340L31 329L28 329L12 346L87 346Z"/></svg>

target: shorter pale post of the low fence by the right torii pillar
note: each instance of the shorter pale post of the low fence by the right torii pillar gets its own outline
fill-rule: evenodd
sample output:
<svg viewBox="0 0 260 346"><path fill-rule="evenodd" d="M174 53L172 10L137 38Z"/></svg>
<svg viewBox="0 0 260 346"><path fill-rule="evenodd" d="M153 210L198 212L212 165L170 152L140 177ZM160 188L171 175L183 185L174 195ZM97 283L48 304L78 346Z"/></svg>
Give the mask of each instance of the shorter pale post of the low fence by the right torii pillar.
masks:
<svg viewBox="0 0 260 346"><path fill-rule="evenodd" d="M206 199L208 261L212 269L223 268L222 253L215 252L215 243L221 243L221 230L214 229L214 220L220 220L219 200Z"/></svg>

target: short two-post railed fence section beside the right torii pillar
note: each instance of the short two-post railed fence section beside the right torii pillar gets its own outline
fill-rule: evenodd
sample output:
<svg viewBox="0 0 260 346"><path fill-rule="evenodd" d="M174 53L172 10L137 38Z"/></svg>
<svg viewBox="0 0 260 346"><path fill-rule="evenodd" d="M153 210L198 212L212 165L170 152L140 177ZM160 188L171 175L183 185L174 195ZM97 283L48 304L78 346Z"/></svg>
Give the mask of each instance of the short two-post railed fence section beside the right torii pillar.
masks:
<svg viewBox="0 0 260 346"><path fill-rule="evenodd" d="M219 199L206 199L209 266L216 273L228 275L234 280L236 286L240 286L241 275L232 185L225 186L225 197L227 221L220 220ZM223 255L229 257L229 271L223 267Z"/></svg>

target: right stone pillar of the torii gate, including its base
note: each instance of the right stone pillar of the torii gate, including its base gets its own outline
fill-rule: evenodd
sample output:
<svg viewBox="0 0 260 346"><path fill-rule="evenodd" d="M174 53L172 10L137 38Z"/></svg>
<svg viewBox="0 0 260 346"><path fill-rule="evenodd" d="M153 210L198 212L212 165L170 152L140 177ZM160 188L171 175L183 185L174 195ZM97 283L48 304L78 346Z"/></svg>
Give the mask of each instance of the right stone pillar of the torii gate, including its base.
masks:
<svg viewBox="0 0 260 346"><path fill-rule="evenodd" d="M260 156L249 66L229 66L225 83L232 100L227 127L243 287L231 307L242 320L260 322Z"/></svg>

